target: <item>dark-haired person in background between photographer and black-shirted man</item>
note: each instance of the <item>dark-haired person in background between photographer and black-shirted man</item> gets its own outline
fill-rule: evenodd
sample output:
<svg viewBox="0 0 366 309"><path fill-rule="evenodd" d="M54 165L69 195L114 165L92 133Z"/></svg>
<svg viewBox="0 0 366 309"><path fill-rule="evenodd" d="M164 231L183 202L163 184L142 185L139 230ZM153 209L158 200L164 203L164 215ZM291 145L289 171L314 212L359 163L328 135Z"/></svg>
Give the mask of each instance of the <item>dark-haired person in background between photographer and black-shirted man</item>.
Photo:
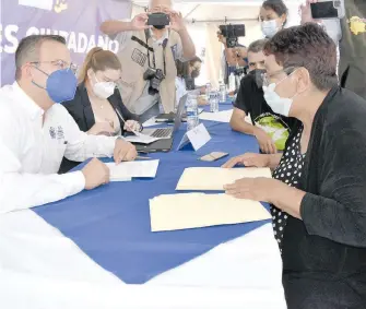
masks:
<svg viewBox="0 0 366 309"><path fill-rule="evenodd" d="M197 87L194 81L201 73L201 64L202 60L197 56L188 62L176 61L176 105L187 91L200 90L201 93L201 87ZM200 105L204 105L205 103L205 100L199 97Z"/></svg>

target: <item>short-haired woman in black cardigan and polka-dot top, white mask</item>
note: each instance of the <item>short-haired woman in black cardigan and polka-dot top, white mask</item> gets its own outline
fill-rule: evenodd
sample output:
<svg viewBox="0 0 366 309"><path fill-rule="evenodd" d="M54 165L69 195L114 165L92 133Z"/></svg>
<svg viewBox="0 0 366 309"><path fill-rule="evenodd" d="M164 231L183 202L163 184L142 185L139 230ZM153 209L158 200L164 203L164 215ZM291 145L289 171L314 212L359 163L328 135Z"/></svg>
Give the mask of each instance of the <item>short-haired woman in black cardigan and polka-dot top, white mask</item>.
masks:
<svg viewBox="0 0 366 309"><path fill-rule="evenodd" d="M366 306L366 100L338 85L337 49L317 24L278 33L265 46L264 98L298 119L283 154L245 154L273 179L225 186L271 204L288 309Z"/></svg>

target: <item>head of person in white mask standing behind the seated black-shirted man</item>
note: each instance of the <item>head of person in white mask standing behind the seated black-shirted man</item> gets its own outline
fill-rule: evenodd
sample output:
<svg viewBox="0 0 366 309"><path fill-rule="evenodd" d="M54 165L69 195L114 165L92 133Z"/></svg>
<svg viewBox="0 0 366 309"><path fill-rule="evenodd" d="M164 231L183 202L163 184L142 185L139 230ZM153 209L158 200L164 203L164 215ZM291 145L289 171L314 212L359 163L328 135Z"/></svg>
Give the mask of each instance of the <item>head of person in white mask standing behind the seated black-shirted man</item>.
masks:
<svg viewBox="0 0 366 309"><path fill-rule="evenodd" d="M259 12L264 37L271 38L279 31L283 29L287 22L287 7L282 0L264 1Z"/></svg>

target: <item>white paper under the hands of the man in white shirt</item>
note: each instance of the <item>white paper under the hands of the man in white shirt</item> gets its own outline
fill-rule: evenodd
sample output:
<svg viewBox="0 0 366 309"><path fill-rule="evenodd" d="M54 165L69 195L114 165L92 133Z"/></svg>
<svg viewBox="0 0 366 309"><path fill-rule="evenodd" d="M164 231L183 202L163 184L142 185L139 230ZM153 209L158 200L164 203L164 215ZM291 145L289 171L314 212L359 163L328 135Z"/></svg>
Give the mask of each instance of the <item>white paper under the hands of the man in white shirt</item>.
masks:
<svg viewBox="0 0 366 309"><path fill-rule="evenodd" d="M107 163L110 171L110 181L127 181L133 177L154 178L158 166L158 159L122 162L118 165Z"/></svg>

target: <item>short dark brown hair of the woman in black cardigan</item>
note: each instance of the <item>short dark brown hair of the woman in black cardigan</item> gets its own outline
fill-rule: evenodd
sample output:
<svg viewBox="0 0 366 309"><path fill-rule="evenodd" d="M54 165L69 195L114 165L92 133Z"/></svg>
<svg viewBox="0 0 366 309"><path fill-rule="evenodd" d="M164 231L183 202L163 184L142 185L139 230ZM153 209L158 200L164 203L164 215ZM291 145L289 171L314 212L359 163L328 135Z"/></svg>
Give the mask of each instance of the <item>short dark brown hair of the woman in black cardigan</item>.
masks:
<svg viewBox="0 0 366 309"><path fill-rule="evenodd" d="M320 91L338 84L335 44L316 23L279 32L265 44L264 54L274 55L284 69L307 69L311 82Z"/></svg>

